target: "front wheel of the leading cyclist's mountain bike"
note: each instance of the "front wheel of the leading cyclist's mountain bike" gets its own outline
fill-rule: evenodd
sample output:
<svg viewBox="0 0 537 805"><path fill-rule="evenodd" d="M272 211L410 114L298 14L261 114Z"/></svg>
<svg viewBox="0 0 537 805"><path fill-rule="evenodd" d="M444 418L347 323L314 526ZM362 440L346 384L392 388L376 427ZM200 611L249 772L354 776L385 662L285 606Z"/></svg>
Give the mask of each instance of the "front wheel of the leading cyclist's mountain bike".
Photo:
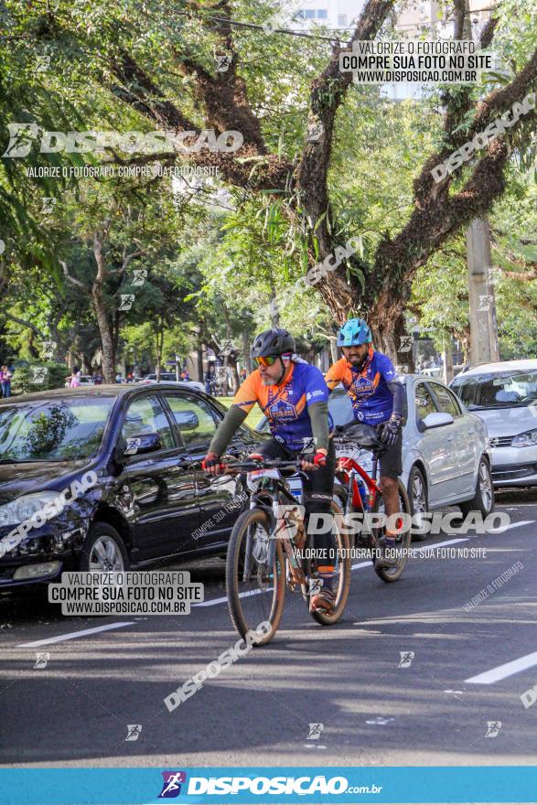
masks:
<svg viewBox="0 0 537 805"><path fill-rule="evenodd" d="M263 621L271 624L257 646L274 638L284 612L284 552L281 542L271 540L271 536L270 520L263 509L243 511L231 531L226 562L228 606L241 637L255 631ZM268 567L266 560L274 542L274 562Z"/></svg>

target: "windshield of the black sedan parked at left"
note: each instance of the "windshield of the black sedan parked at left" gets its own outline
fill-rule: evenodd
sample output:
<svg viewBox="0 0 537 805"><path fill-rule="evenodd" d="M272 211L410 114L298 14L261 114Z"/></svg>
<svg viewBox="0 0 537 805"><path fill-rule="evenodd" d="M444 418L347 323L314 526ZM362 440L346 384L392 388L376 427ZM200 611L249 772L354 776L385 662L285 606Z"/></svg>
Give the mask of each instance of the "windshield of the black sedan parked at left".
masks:
<svg viewBox="0 0 537 805"><path fill-rule="evenodd" d="M113 397L0 407L0 462L77 461L95 455Z"/></svg>

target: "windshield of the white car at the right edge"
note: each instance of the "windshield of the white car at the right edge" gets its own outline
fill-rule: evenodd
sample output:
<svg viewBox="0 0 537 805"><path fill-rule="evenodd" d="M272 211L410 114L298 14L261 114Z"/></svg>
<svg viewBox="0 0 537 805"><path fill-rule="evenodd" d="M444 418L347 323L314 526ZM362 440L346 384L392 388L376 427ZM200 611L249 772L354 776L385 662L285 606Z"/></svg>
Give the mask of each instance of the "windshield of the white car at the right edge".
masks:
<svg viewBox="0 0 537 805"><path fill-rule="evenodd" d="M453 381L451 388L470 411L523 408L537 400L537 370L461 376Z"/></svg>

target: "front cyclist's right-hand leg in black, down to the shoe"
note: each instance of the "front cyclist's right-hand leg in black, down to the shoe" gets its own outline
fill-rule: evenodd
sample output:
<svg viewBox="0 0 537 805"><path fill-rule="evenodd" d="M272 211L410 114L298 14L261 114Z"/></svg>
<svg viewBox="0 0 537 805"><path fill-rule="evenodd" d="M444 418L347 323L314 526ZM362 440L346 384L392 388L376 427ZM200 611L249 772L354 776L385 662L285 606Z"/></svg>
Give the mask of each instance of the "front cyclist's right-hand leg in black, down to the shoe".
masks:
<svg viewBox="0 0 537 805"><path fill-rule="evenodd" d="M326 467L319 467L306 473L303 479L305 521L309 526L312 520L311 515L322 514L327 517L324 520L330 523L332 519L332 496L334 494L334 476L336 473L336 448L332 440L328 448L328 460ZM317 518L313 518L315 522ZM312 525L313 525L312 522ZM330 556L330 550L334 547L331 527L325 533L314 533L314 547L319 552L317 564L317 575L323 581L321 592L318 596L312 596L311 606L320 606L323 599L328 603L333 598L332 581L334 577L334 557Z"/></svg>

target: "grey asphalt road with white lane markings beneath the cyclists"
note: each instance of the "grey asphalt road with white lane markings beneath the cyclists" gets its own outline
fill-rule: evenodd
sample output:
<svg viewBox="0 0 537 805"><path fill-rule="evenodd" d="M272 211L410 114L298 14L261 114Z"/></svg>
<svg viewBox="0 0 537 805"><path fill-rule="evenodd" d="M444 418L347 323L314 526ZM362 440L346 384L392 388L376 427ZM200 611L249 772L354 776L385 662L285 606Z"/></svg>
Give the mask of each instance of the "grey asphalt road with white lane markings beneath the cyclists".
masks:
<svg viewBox="0 0 537 805"><path fill-rule="evenodd" d="M164 698L237 639L220 560L184 568L209 606L183 617L68 618L35 598L0 599L0 765L533 765L537 706L521 694L537 682L537 491L501 493L497 509L510 515L505 533L414 543L482 558L415 559L392 585L357 567L337 626L317 626L288 595L273 643L173 713ZM38 651L49 653L42 669ZM401 652L413 652L407 667ZM141 725L136 740L127 725Z"/></svg>

